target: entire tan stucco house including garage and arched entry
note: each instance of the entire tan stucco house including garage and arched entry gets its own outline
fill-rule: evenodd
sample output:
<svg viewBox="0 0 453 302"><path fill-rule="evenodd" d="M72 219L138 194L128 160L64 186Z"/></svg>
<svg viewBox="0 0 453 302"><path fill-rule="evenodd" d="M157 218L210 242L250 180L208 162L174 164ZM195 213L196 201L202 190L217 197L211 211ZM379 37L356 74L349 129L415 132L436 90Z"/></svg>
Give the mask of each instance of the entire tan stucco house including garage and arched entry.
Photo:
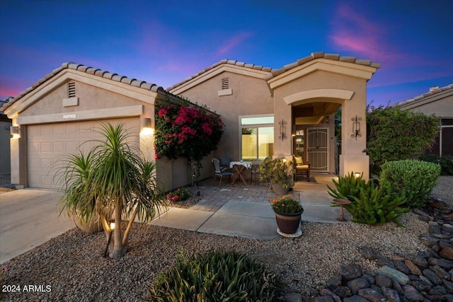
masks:
<svg viewBox="0 0 453 302"><path fill-rule="evenodd" d="M367 81L379 64L339 54L312 53L271 69L224 60L164 90L108 71L65 63L3 106L18 132L11 139L11 183L55 188L67 153L87 150L99 137L101 122L124 122L134 144L154 158L156 105L183 98L221 115L226 130L212 156L259 162L266 156L299 153L313 170L335 171L334 113L342 107L340 174L369 174L366 147ZM183 97L183 98L182 98ZM151 121L150 121L150 120ZM145 123L143 123L145 122ZM210 156L202 178L213 175ZM157 177L171 190L190 183L184 158L157 161Z"/></svg>

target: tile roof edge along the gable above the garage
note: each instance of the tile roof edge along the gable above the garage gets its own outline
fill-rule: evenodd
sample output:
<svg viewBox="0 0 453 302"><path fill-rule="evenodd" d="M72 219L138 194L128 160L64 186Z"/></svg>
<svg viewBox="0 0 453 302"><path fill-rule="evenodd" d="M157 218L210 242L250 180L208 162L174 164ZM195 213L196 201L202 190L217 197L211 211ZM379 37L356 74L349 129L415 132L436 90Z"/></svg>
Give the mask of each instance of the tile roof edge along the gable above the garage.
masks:
<svg viewBox="0 0 453 302"><path fill-rule="evenodd" d="M121 83L127 83L129 85L136 86L139 88L144 88L149 91L154 91L154 92L163 91L165 93L168 93L167 91L164 90L164 88L162 88L161 86L157 86L156 84L153 84L153 83L147 83L145 81L139 81L137 79L128 78L127 76L120 76L118 74L112 74L109 71L103 71L101 69L96 69L91 66L76 64L74 62L67 62L67 63L63 63L62 66L60 66L59 68L54 69L50 74L47 74L44 78L40 79L39 81L34 83L31 87L27 88L27 90L19 93L15 98L13 98L8 103L6 103L1 109L5 110L9 106L11 106L13 103L16 103L16 101L23 98L24 95L30 93L30 91L35 90L42 83L45 83L45 81L47 81L48 79L51 79L53 76L57 75L60 71L62 71L64 69L74 69L77 71L83 71L83 72L86 72L87 74L93 74L95 76L101 76L105 79L110 79L110 80L121 82ZM168 94L171 94L171 93L168 93Z"/></svg>

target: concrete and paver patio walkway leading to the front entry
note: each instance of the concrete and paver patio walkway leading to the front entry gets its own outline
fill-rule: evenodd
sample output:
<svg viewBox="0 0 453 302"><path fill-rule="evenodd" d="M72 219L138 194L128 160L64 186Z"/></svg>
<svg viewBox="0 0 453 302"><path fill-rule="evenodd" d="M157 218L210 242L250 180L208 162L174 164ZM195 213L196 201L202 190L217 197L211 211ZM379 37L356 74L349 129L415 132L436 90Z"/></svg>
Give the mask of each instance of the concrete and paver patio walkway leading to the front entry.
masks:
<svg viewBox="0 0 453 302"><path fill-rule="evenodd" d="M331 207L332 197L327 185L333 187L335 175L313 174L311 181L296 182L294 197L304 206L303 221L340 223L339 208ZM268 199L276 196L267 185L218 182L203 180L193 188L193 194L200 192L200 202L188 209L173 207L155 219L151 224L179 228L201 233L225 236L239 236L259 240L280 238L277 224ZM346 219L350 215L346 213Z"/></svg>

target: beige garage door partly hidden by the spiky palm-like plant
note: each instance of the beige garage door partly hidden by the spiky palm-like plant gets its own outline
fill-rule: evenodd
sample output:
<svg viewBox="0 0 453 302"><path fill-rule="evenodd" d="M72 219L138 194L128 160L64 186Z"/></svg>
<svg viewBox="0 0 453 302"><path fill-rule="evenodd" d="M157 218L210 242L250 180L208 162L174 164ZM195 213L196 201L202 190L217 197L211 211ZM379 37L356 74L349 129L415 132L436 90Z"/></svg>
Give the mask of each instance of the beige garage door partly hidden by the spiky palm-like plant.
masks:
<svg viewBox="0 0 453 302"><path fill-rule="evenodd" d="M70 153L91 149L93 139L102 139L101 122L124 122L134 142L139 141L139 118L103 121L33 124L27 128L28 187L58 189L58 174L64 158Z"/></svg>

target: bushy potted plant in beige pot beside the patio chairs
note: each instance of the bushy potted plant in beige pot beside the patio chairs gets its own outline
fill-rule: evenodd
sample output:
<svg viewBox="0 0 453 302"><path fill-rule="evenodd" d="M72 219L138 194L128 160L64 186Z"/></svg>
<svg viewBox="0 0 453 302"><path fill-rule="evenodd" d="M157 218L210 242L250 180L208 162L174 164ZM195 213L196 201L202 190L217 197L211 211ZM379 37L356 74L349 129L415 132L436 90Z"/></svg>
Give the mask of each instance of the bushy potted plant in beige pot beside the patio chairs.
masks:
<svg viewBox="0 0 453 302"><path fill-rule="evenodd" d="M260 165L260 180L270 182L273 191L280 195L286 194L294 185L293 174L292 161L287 161L285 158L268 158Z"/></svg>

